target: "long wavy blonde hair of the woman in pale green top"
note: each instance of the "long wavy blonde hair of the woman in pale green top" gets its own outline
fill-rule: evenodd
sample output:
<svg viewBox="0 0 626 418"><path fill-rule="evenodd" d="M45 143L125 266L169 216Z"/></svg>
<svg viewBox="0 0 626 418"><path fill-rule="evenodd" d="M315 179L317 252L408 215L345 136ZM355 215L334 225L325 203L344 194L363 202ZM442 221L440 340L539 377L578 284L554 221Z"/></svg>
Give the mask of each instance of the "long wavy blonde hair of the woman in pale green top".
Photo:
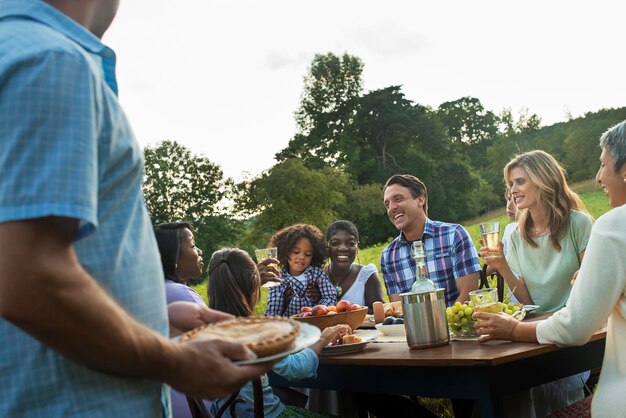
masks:
<svg viewBox="0 0 626 418"><path fill-rule="evenodd" d="M550 228L550 241L552 245L561 251L559 238L567 229L570 214L573 210L587 212L585 204L576 192L567 184L565 169L559 162L545 151L535 150L517 155L504 167L504 182L507 189L512 186L511 170L516 167L524 169L530 181L537 187L537 203L546 211L548 227ZM591 215L589 215L591 216ZM531 247L538 247L531 238L530 231L534 226L532 215L528 209L520 210L518 225L524 241Z"/></svg>

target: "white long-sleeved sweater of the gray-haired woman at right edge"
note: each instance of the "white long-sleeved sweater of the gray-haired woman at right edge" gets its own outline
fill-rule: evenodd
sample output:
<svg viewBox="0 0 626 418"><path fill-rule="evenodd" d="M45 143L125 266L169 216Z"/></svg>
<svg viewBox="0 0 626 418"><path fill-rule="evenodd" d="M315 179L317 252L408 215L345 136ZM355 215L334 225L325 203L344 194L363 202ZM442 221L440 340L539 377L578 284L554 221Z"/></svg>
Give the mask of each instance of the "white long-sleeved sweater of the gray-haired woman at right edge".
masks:
<svg viewBox="0 0 626 418"><path fill-rule="evenodd" d="M537 340L581 345L607 318L604 362L591 411L594 417L626 417L626 205L594 224L567 304L537 325Z"/></svg>

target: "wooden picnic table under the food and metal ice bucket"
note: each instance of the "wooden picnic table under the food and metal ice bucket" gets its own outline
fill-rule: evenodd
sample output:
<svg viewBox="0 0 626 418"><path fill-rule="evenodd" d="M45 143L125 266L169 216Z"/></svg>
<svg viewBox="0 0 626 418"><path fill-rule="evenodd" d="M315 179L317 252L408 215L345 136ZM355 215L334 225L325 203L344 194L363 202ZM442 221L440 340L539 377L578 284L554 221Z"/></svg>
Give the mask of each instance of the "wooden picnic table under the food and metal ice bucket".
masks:
<svg viewBox="0 0 626 418"><path fill-rule="evenodd" d="M510 341L452 341L410 350L406 343L371 343L359 353L321 357L316 379L274 386L474 399L480 416L503 417L503 396L602 365L606 329L578 347Z"/></svg>

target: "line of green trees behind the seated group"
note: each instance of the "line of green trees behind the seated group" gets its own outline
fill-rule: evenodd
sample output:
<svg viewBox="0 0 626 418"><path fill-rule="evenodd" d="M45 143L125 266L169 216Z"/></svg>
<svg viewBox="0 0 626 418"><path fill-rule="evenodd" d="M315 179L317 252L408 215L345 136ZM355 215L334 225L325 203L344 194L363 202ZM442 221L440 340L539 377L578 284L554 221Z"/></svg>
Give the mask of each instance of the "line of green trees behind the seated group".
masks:
<svg viewBox="0 0 626 418"><path fill-rule="evenodd" d="M361 245L397 231L386 219L382 186L396 173L421 178L429 217L459 222L503 204L502 169L516 154L543 149L570 181L592 178L598 138L626 119L626 107L603 109L551 126L535 114L496 113L462 97L438 108L409 100L401 85L363 91L360 58L318 54L304 78L297 131L257 177L234 182L207 157L175 141L145 148L144 193L154 223L188 220L210 255L223 246L263 247L283 226L322 230L349 219Z"/></svg>

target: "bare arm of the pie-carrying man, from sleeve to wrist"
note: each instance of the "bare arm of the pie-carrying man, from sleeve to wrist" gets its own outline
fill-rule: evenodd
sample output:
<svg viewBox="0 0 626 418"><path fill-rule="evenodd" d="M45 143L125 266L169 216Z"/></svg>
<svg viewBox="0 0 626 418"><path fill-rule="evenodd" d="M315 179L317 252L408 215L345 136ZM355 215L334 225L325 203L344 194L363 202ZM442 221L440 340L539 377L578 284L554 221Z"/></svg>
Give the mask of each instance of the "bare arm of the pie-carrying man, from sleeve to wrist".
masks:
<svg viewBox="0 0 626 418"><path fill-rule="evenodd" d="M177 347L89 276L68 238L75 230L64 222L0 225L0 315L87 367L148 378L167 373Z"/></svg>

